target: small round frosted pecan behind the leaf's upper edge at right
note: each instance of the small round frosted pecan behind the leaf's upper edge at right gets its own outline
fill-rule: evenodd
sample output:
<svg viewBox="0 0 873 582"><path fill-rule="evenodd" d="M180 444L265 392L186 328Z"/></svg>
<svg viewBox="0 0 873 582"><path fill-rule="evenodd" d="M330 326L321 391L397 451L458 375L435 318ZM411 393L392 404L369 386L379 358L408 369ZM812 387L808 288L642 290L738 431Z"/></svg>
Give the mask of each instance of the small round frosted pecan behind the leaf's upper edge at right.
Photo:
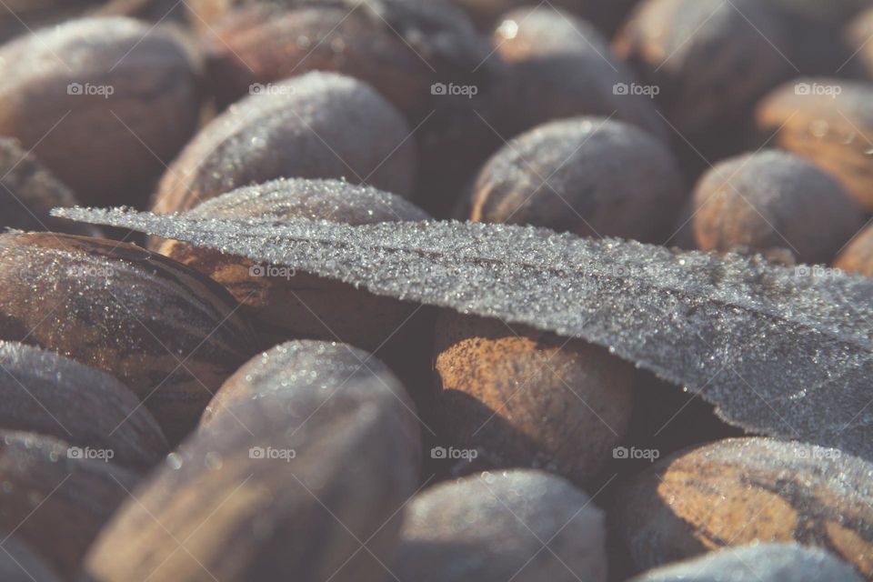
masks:
<svg viewBox="0 0 873 582"><path fill-rule="evenodd" d="M694 193L694 233L704 250L784 248L800 263L828 264L863 220L833 176L776 150L720 162Z"/></svg>

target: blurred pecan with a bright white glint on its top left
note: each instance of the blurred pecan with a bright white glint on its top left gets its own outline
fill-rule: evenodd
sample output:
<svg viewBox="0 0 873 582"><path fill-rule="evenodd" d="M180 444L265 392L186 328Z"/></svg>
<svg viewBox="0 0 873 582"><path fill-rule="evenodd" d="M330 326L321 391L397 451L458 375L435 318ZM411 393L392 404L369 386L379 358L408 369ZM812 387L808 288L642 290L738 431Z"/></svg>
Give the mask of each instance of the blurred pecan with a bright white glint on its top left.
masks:
<svg viewBox="0 0 873 582"><path fill-rule="evenodd" d="M657 88L637 83L584 20L550 5L519 8L500 18L492 45L509 65L504 137L553 119L602 115L668 140L653 105Z"/></svg>

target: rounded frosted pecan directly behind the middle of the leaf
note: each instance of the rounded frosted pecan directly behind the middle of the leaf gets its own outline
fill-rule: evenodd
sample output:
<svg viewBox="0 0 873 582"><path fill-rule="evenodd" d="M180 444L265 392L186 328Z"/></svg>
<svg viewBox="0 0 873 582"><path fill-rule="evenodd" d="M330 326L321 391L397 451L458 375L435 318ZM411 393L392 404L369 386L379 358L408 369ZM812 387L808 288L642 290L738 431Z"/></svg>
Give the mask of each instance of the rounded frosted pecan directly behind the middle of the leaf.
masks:
<svg viewBox="0 0 873 582"><path fill-rule="evenodd" d="M539 125L488 160L470 219L578 236L663 242L685 197L676 161L634 125L578 117Z"/></svg>

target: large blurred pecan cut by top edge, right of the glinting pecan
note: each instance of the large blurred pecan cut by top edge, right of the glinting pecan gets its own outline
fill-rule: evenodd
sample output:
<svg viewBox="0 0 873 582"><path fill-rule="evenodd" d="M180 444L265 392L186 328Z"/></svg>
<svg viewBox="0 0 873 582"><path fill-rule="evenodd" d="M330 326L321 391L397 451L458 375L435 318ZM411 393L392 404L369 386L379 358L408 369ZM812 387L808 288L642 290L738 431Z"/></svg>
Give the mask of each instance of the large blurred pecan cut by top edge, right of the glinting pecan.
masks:
<svg viewBox="0 0 873 582"><path fill-rule="evenodd" d="M743 0L644 0L614 43L688 139L746 115L794 73L785 45L778 20Z"/></svg>

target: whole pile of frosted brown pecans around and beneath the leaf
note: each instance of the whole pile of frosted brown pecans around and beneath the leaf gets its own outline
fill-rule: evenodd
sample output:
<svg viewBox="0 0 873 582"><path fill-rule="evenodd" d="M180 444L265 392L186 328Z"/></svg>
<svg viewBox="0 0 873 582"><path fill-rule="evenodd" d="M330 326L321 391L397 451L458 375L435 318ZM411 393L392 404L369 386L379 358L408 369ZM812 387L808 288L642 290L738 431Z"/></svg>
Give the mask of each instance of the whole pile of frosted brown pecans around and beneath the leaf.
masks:
<svg viewBox="0 0 873 582"><path fill-rule="evenodd" d="M873 580L871 458L579 338L49 214L873 276L873 0L0 5L0 579Z"/></svg>

